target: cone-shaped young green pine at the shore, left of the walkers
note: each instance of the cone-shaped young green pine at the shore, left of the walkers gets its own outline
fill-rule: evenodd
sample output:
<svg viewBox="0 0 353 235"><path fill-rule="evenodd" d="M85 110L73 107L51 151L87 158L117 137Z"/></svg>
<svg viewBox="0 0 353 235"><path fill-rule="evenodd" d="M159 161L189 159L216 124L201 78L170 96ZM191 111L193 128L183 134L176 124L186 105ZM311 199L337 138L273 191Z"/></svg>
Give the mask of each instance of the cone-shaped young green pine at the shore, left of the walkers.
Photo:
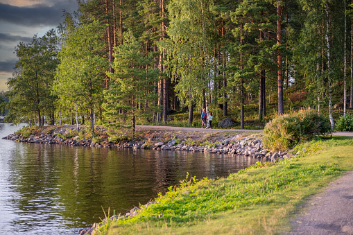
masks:
<svg viewBox="0 0 353 235"><path fill-rule="evenodd" d="M146 67L151 58L140 51L140 42L132 31L124 34L124 44L114 48L114 73L107 73L111 78L110 87L104 92L106 102L104 116L108 128L132 128L135 131L137 117L151 116L153 105L138 108L141 101L155 101L153 92L157 71Z"/></svg>

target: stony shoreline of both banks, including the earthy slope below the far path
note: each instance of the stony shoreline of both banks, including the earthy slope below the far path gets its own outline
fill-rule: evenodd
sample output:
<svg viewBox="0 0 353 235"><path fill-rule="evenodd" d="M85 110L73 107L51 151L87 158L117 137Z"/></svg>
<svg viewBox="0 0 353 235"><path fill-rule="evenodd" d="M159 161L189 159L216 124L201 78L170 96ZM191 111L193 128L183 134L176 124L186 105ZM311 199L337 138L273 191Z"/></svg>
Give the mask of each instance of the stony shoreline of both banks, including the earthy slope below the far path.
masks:
<svg viewBox="0 0 353 235"><path fill-rule="evenodd" d="M219 133L217 130L212 129L214 132L205 136L204 133L195 134L193 132L160 132L158 130L144 130L143 134L147 137L144 140L137 141L119 141L113 143L111 141L103 141L103 143L94 143L92 140L79 137L73 134L73 137L64 139L65 134L72 134L76 131L76 128L71 126L56 127L50 131L46 131L46 128L38 131L36 134L31 134L29 137L23 137L21 134L9 134L7 137L2 139L8 139L12 141L19 141L25 143L42 143L42 144L64 144L68 146L85 146L90 148L142 148L149 150L174 150L174 151L189 151L189 152L203 152L203 153L214 153L214 154L227 154L227 155L244 155L246 157L253 157L259 159L259 162L277 162L281 159L289 159L295 157L293 153L289 152L270 152L262 147L262 135L259 133L247 134L247 133ZM106 130L101 130L102 134L106 133ZM169 140L166 138L166 133L170 136L174 136L173 139ZM150 137L152 136L152 137ZM199 144L196 144L198 142ZM203 142L203 143L202 143ZM207 144L205 144L207 143ZM205 145L203 145L205 144ZM148 205L155 202L148 202L146 205L142 205L141 208L146 208ZM135 207L130 212L123 216L112 216L109 220L116 220L119 218L129 218L136 216L141 210L139 207ZM107 223L107 219L103 220L103 223ZM78 230L78 234L92 234L101 223L94 223L92 227L86 227Z"/></svg>

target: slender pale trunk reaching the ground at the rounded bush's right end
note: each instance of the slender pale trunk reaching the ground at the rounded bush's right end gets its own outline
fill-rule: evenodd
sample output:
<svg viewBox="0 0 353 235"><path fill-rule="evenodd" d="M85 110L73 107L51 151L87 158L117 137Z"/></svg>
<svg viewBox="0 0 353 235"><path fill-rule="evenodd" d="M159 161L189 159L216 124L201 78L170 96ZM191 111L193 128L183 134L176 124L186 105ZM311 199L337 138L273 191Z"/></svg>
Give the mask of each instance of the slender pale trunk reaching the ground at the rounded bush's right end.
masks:
<svg viewBox="0 0 353 235"><path fill-rule="evenodd" d="M327 73L328 73L328 86L329 86L329 122L331 123L331 130L334 130L334 116L332 114L332 78L331 78L331 71L330 71L330 65L331 65L331 58L330 58L330 53L329 53L329 4L326 1L326 40L327 40Z"/></svg>

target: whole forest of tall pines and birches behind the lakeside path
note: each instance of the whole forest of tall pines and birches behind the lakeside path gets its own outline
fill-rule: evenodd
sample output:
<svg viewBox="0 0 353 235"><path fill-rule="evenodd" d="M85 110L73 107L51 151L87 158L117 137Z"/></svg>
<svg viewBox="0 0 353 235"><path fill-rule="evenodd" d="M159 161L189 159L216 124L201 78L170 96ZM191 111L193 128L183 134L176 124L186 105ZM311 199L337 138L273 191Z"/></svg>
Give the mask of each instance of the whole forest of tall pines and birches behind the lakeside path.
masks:
<svg viewBox="0 0 353 235"><path fill-rule="evenodd" d="M94 134L182 112L196 126L207 108L243 129L248 116L311 107L334 128L353 107L353 0L78 3L15 48L8 120L87 122Z"/></svg>

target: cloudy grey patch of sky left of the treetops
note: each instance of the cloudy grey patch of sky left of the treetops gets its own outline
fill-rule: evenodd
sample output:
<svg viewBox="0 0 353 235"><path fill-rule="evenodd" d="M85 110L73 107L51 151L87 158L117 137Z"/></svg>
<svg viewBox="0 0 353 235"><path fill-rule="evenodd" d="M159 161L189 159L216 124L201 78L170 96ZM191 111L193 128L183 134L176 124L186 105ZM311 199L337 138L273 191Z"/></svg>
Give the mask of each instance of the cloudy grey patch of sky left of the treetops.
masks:
<svg viewBox="0 0 353 235"><path fill-rule="evenodd" d="M76 0L0 0L0 92L17 62L15 46L42 37L62 23L64 10L77 9Z"/></svg>

